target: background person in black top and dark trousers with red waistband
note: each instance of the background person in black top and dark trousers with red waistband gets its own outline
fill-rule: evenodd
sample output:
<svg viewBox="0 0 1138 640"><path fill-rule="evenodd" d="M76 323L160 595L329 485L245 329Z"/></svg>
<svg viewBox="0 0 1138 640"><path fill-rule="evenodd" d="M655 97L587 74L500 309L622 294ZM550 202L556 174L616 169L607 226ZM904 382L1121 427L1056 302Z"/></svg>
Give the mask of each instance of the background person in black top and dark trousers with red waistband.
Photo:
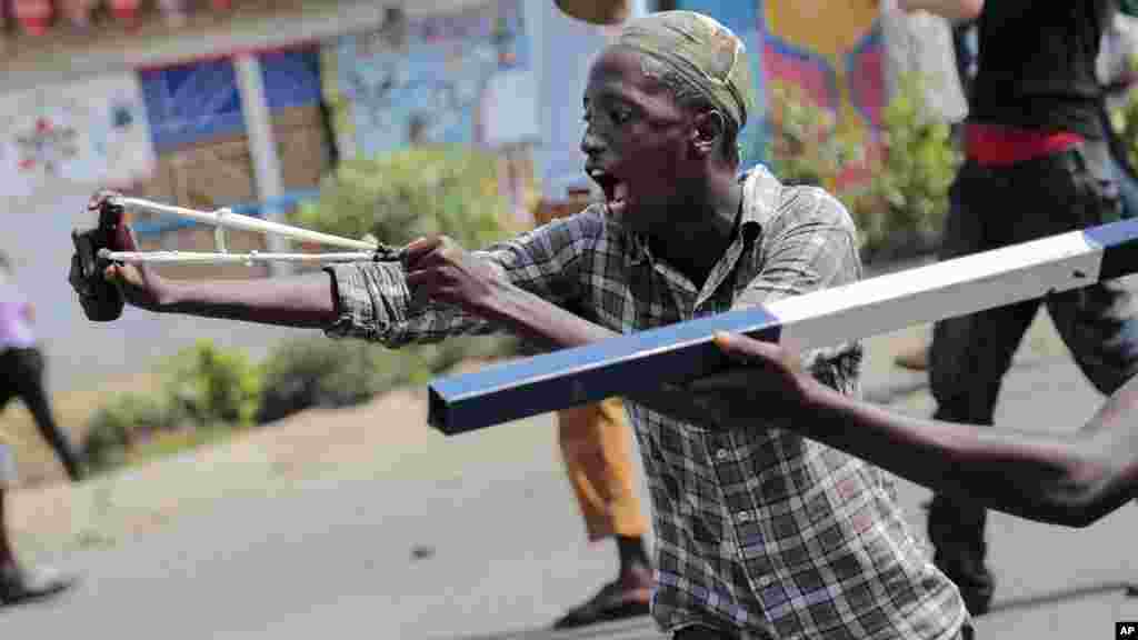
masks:
<svg viewBox="0 0 1138 640"><path fill-rule="evenodd" d="M979 63L964 128L965 161L950 191L940 259L1095 227L1120 215L1096 64L1111 0L905 0L950 19L978 17ZM1099 282L939 321L929 377L941 421L990 425L1000 384L1040 304L1087 378L1104 394L1138 374L1138 307L1120 281ZM933 561L984 614L986 509L959 493L929 508Z"/></svg>

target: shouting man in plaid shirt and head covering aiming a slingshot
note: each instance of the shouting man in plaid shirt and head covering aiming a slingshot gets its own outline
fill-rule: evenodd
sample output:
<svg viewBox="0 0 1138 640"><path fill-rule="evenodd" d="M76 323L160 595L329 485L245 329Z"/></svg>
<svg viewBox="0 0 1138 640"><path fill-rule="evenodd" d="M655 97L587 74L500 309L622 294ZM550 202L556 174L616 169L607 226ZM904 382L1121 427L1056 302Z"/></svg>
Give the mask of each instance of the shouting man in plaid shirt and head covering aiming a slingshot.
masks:
<svg viewBox="0 0 1138 640"><path fill-rule="evenodd" d="M110 264L81 269L76 288L89 310L106 276L156 312L389 346L502 328L575 346L857 280L852 222L836 199L761 169L739 175L737 132L754 109L749 73L742 42L706 16L626 24L594 61L583 104L586 172L605 202L487 251L430 238L385 256L397 260L247 281L175 281ZM94 202L101 213L113 204ZM110 227L101 246L132 249ZM808 369L851 393L858 355L855 343L818 350ZM906 531L879 469L770 428L775 416L725 429L695 400L663 388L626 397L651 489L652 614L663 631L971 635L956 586Z"/></svg>

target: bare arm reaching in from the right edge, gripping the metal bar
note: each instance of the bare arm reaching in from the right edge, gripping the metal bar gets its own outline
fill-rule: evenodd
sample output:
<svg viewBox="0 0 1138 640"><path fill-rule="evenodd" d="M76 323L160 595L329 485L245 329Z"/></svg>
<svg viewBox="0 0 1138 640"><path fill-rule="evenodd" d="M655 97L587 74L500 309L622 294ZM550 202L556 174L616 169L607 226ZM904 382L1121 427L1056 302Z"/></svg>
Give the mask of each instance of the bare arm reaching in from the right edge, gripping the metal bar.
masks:
<svg viewBox="0 0 1138 640"><path fill-rule="evenodd" d="M803 374L784 348L745 336L716 343L740 363L731 421L752 407L787 428L938 492L1023 518L1086 526L1138 497L1138 378L1077 434L1061 436L914 418L858 401ZM724 388L724 381L695 383Z"/></svg>

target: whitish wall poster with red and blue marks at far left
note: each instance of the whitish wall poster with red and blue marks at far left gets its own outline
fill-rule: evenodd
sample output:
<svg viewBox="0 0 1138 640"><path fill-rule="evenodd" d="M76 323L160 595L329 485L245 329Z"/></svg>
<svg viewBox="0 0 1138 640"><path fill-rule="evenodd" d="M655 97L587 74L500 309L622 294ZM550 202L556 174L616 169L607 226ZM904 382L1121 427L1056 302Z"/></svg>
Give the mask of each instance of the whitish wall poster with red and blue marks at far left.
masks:
<svg viewBox="0 0 1138 640"><path fill-rule="evenodd" d="M0 93L0 167L3 196L148 179L155 151L135 75Z"/></svg>

